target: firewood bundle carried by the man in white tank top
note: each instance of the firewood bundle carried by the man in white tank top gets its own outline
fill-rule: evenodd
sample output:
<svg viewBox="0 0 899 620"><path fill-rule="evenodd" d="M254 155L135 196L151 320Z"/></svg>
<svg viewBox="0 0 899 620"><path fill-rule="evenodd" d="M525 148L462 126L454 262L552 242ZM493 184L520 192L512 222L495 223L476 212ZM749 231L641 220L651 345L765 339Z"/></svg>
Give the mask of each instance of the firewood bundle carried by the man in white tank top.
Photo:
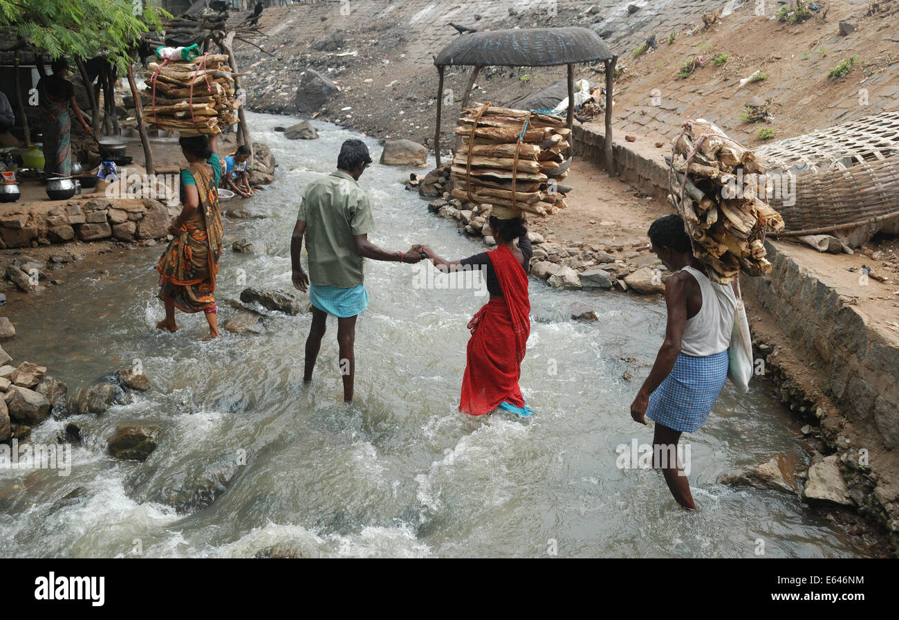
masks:
<svg viewBox="0 0 899 620"><path fill-rule="evenodd" d="M784 221L765 201L766 166L711 122L685 121L683 128L673 141L670 198L693 256L718 283L730 283L741 270L770 274L765 233L782 230Z"/></svg>

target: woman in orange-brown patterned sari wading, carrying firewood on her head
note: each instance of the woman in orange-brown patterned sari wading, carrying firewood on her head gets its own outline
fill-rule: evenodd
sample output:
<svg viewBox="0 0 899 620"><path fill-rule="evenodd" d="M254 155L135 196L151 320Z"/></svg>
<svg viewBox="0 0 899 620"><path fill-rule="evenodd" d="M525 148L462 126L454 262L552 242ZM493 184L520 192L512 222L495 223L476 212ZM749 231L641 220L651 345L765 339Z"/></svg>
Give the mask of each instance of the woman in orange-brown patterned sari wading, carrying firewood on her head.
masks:
<svg viewBox="0 0 899 620"><path fill-rule="evenodd" d="M218 337L213 297L222 251L222 216L218 206L218 137L192 136L178 141L188 166L181 171L181 214L169 228L174 239L165 248L159 271L159 299L165 319L156 328L175 331L174 309L200 312L209 322L209 336Z"/></svg>

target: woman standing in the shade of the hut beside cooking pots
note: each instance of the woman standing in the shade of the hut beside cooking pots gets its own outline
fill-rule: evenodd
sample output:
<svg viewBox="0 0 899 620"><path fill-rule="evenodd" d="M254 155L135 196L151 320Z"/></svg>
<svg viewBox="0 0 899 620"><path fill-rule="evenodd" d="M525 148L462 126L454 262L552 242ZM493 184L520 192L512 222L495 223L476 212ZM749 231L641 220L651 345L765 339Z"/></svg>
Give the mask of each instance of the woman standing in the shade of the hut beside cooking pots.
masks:
<svg viewBox="0 0 899 620"><path fill-rule="evenodd" d="M47 175L72 174L71 112L75 112L87 133L91 127L81 115L75 100L75 86L66 79L68 62L57 58L50 65L52 76L41 77L38 82L40 111L44 112L44 172Z"/></svg>

